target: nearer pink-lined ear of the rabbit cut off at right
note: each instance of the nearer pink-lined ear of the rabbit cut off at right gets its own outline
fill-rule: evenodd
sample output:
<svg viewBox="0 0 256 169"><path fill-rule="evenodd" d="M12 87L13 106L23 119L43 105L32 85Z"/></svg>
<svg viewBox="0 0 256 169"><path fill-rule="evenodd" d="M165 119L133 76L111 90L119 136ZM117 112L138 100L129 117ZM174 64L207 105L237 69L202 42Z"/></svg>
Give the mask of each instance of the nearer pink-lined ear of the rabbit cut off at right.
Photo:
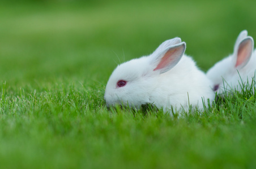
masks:
<svg viewBox="0 0 256 169"><path fill-rule="evenodd" d="M235 68L242 68L248 63L253 53L253 46L254 42L251 37L246 37L238 44L233 56Z"/></svg>

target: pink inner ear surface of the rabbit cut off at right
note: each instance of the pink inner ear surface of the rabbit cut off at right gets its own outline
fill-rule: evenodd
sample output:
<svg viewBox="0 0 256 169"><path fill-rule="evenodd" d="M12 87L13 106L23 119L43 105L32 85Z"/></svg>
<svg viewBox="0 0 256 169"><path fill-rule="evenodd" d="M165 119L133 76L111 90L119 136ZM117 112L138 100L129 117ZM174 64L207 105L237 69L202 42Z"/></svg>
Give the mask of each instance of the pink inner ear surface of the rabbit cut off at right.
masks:
<svg viewBox="0 0 256 169"><path fill-rule="evenodd" d="M251 42L245 42L244 44L241 44L238 48L237 52L237 61L236 61L236 67L240 66L243 63L246 63L250 57L251 52Z"/></svg>

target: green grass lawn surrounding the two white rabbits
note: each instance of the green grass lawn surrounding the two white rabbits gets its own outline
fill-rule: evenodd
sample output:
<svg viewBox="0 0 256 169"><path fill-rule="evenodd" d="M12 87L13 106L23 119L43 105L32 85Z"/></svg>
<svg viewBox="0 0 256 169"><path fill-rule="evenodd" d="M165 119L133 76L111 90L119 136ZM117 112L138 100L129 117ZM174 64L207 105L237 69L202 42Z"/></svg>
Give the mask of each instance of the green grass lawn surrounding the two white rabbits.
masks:
<svg viewBox="0 0 256 169"><path fill-rule="evenodd" d="M254 1L2 1L0 168L255 168L256 94L172 118L107 110L117 63L181 37L206 71L256 37Z"/></svg>

